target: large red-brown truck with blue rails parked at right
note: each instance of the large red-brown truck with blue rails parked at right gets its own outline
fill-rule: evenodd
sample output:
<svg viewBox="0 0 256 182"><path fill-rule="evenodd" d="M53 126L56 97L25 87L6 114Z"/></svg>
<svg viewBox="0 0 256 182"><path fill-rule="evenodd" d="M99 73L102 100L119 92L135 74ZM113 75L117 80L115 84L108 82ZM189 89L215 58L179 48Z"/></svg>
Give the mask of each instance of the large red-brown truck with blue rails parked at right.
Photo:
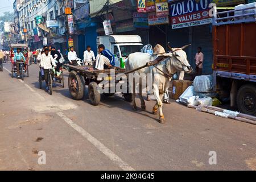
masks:
<svg viewBox="0 0 256 182"><path fill-rule="evenodd" d="M231 106L256 114L256 3L236 6L213 18L214 89ZM226 96L226 97L229 97Z"/></svg>

